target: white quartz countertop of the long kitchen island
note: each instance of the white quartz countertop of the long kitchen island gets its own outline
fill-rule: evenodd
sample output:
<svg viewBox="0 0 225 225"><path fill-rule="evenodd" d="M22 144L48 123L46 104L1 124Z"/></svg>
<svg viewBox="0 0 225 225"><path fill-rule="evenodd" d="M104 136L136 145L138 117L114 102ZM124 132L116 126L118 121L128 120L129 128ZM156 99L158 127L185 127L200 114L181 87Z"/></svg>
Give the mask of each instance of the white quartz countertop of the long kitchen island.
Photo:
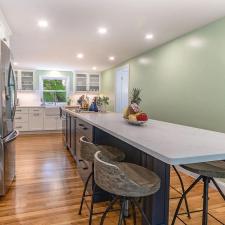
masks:
<svg viewBox="0 0 225 225"><path fill-rule="evenodd" d="M66 111L171 165L225 160L224 133L157 120L133 126L118 113Z"/></svg>

